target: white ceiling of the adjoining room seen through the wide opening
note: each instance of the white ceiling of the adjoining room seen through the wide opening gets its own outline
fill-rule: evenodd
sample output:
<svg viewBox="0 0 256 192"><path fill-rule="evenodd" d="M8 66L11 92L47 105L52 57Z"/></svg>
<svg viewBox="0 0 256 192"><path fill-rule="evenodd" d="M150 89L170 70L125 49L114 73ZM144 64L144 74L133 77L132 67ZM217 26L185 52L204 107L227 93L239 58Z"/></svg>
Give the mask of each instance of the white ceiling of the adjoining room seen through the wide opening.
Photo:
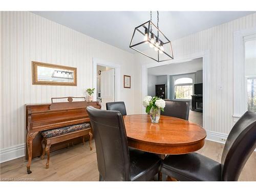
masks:
<svg viewBox="0 0 256 192"><path fill-rule="evenodd" d="M187 62L173 63L147 69L150 75L180 75L185 73L194 73L203 70L203 59L198 58Z"/></svg>

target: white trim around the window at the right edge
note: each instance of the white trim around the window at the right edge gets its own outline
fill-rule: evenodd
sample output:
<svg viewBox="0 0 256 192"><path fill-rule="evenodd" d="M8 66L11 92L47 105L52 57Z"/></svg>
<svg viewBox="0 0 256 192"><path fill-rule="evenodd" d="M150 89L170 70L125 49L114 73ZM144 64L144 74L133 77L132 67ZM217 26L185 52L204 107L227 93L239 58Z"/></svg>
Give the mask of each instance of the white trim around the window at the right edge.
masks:
<svg viewBox="0 0 256 192"><path fill-rule="evenodd" d="M233 120L236 122L247 111L245 82L244 37L256 33L256 27L233 33Z"/></svg>

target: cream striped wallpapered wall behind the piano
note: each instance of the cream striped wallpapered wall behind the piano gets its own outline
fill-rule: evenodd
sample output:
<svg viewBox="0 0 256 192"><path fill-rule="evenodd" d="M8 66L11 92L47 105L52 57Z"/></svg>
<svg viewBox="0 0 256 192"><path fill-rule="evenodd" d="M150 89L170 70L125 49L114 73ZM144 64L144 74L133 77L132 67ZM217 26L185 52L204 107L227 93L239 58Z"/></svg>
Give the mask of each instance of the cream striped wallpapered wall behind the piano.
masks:
<svg viewBox="0 0 256 192"><path fill-rule="evenodd" d="M1 141L3 158L24 155L26 103L47 103L51 97L84 96L93 87L93 57L113 62L130 75L131 89L120 98L134 113L134 56L92 37L30 12L1 12ZM77 86L32 85L31 61L77 68ZM5 159L6 160L6 159Z"/></svg>

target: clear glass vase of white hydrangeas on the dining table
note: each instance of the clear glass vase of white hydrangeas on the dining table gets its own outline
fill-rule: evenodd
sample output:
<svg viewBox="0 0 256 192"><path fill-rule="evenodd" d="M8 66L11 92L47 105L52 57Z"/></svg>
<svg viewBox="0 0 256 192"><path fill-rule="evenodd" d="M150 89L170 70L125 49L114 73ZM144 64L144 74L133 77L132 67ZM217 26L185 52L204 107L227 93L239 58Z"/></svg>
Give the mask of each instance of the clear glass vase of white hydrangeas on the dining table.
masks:
<svg viewBox="0 0 256 192"><path fill-rule="evenodd" d="M150 113L150 118L153 123L158 123L160 119L160 112L164 111L165 101L158 97L146 96L143 99L143 106L146 108L146 113Z"/></svg>

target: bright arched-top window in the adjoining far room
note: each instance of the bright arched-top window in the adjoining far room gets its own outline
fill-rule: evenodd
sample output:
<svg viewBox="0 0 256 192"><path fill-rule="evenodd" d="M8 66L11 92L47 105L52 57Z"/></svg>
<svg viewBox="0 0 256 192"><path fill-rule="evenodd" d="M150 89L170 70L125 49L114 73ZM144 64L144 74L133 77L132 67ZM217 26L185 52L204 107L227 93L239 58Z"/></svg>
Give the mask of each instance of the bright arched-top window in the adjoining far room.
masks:
<svg viewBox="0 0 256 192"><path fill-rule="evenodd" d="M174 99L190 100L194 93L194 74L174 76Z"/></svg>

